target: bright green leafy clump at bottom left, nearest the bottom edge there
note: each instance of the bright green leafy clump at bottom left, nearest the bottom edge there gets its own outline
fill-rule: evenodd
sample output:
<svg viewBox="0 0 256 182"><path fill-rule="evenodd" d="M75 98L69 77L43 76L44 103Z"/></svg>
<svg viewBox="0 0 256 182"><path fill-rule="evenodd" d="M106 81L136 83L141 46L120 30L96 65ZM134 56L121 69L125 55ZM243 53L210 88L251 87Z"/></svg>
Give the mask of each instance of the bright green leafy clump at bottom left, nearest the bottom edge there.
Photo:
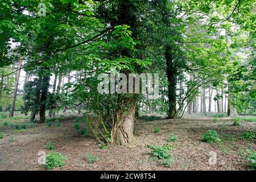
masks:
<svg viewBox="0 0 256 182"><path fill-rule="evenodd" d="M53 169L55 167L63 167L67 158L60 152L50 152L46 155L46 167Z"/></svg>

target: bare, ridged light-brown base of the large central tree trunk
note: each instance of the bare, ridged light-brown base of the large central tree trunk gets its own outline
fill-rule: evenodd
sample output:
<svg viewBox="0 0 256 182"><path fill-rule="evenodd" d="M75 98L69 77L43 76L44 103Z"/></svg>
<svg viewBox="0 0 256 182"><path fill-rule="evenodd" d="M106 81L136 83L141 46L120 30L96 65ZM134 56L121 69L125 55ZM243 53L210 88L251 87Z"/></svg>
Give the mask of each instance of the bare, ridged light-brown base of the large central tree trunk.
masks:
<svg viewBox="0 0 256 182"><path fill-rule="evenodd" d="M111 132L112 143L125 145L133 139L135 107L135 103L130 104L126 114L122 108L117 111Z"/></svg>

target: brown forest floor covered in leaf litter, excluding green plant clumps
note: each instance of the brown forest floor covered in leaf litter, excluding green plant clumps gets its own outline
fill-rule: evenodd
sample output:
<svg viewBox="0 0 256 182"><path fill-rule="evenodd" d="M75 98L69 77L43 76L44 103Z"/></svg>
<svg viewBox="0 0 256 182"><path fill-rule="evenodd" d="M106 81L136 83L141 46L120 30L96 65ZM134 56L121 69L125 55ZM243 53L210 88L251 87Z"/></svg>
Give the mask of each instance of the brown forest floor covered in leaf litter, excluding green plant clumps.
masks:
<svg viewBox="0 0 256 182"><path fill-rule="evenodd" d="M17 120L18 121L18 120ZM3 123L3 120L1 121ZM137 120L134 139L128 146L112 146L101 150L100 143L92 137L81 137L73 129L74 120L61 121L60 126L47 127L35 124L25 130L3 127L0 132L0 170L47 170L38 164L39 151L49 152L48 142L55 143L53 151L67 156L63 168L55 170L248 170L246 149L255 150L255 140L242 140L245 131L256 131L256 122L242 121L232 126L231 118L213 118L201 115L185 116L183 119L160 119L156 121ZM158 133L154 128L158 127ZM201 141L205 131L214 129L222 140L218 144ZM168 135L177 137L176 142L167 142ZM154 160L147 144L171 143L171 167L166 168ZM216 164L209 164L211 152L216 152ZM86 154L98 156L89 164Z"/></svg>

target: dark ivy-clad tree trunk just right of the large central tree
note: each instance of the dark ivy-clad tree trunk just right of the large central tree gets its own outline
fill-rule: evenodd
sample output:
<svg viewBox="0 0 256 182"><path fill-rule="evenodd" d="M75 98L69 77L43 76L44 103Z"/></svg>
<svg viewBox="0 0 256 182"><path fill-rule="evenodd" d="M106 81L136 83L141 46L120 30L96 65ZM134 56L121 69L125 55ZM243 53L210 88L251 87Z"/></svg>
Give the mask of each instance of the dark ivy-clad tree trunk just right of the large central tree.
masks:
<svg viewBox="0 0 256 182"><path fill-rule="evenodd" d="M168 119L173 119L176 117L176 86L177 86L177 68L174 64L174 59L171 54L171 48L166 47L166 75L168 80Z"/></svg>

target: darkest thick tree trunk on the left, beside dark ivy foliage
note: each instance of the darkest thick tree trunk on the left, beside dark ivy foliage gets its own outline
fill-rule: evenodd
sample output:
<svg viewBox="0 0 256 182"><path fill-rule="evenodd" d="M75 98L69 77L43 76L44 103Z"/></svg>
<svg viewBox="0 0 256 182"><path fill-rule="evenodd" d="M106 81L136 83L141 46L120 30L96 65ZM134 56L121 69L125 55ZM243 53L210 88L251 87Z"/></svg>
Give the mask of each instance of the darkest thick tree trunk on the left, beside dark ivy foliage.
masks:
<svg viewBox="0 0 256 182"><path fill-rule="evenodd" d="M40 97L39 123L46 122L46 100L47 100L47 92L49 88L49 77L44 76L42 81L43 81L43 86L42 86L41 97Z"/></svg>

